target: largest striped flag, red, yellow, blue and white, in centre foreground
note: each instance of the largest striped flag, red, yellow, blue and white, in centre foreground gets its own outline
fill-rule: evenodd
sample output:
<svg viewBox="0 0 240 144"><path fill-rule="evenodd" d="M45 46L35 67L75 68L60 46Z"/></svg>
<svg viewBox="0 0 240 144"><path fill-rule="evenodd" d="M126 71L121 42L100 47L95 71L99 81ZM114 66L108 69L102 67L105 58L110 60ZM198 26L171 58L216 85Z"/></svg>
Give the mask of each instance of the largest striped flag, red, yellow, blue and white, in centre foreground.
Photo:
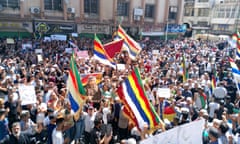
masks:
<svg viewBox="0 0 240 144"><path fill-rule="evenodd" d="M140 130L146 123L150 129L163 124L146 96L137 68L119 86L117 94L130 114L134 115L132 121Z"/></svg>

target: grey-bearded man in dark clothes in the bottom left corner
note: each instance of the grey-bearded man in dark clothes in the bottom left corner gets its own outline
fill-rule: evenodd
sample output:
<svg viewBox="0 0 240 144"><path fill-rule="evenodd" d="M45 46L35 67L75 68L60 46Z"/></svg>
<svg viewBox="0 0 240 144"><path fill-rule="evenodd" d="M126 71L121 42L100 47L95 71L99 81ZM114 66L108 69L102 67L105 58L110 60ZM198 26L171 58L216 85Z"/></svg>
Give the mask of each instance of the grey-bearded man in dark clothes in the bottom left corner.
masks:
<svg viewBox="0 0 240 144"><path fill-rule="evenodd" d="M19 122L12 124L12 132L7 135L0 144L30 144L29 136L21 133L21 126Z"/></svg>

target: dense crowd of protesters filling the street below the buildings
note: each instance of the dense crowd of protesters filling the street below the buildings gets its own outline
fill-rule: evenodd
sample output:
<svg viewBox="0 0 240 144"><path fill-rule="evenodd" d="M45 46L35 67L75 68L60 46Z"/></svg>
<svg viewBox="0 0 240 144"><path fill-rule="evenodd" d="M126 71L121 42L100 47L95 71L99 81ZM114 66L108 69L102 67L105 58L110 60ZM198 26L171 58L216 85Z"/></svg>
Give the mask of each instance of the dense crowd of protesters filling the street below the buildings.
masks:
<svg viewBox="0 0 240 144"><path fill-rule="evenodd" d="M32 47L22 44L31 42ZM102 39L102 42L109 42ZM193 39L139 40L142 51L131 60L126 51L115 62L124 69L113 69L93 59L93 40L75 39L89 58L76 58L80 74L102 73L102 80L90 76L84 86L86 100L82 111L74 113L68 99L66 81L70 57L67 41L23 39L9 45L0 42L0 143L3 144L134 144L165 130L205 120L203 144L238 144L240 97L232 77L228 57L233 52L218 48L219 41ZM36 54L35 49L42 49ZM157 53L156 53L157 50ZM154 51L154 52L153 52ZM182 55L188 78L183 80ZM42 58L41 58L42 57ZM155 107L165 128L139 131L124 115L116 94L119 84L138 67L148 100ZM212 77L217 73L217 86ZM34 86L36 103L23 105L19 85ZM160 95L158 88L170 88L171 96ZM200 96L206 95L202 105ZM164 119L164 105L174 108L172 120Z"/></svg>

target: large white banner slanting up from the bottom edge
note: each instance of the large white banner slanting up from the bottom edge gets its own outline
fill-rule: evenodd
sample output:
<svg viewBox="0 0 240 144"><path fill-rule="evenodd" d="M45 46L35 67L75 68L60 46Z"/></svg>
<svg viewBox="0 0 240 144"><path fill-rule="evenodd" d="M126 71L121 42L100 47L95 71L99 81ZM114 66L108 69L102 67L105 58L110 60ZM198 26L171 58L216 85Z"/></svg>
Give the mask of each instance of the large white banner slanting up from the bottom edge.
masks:
<svg viewBox="0 0 240 144"><path fill-rule="evenodd" d="M201 144L204 120L194 121L140 142L140 144Z"/></svg>

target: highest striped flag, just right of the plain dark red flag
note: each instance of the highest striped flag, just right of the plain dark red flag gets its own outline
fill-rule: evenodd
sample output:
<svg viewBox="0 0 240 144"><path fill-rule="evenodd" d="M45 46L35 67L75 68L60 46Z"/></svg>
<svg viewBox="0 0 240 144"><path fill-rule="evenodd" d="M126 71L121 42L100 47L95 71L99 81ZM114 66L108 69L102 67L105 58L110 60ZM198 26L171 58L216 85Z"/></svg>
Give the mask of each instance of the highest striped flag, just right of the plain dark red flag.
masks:
<svg viewBox="0 0 240 144"><path fill-rule="evenodd" d="M129 54L129 57L131 59L135 59L136 56L140 53L142 50L141 46L133 40L125 31L124 29L119 25L117 34L114 38L115 40L123 39L123 50L126 50Z"/></svg>

